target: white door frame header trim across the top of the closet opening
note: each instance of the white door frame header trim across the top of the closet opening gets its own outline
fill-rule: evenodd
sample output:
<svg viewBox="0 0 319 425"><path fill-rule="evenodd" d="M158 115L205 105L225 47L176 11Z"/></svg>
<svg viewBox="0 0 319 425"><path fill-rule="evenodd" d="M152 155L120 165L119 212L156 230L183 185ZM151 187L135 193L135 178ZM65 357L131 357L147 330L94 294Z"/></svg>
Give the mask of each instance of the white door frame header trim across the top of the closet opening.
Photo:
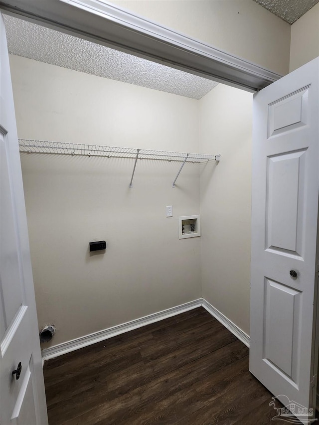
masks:
<svg viewBox="0 0 319 425"><path fill-rule="evenodd" d="M0 0L0 9L56 30L252 92L282 77L99 0Z"/></svg>

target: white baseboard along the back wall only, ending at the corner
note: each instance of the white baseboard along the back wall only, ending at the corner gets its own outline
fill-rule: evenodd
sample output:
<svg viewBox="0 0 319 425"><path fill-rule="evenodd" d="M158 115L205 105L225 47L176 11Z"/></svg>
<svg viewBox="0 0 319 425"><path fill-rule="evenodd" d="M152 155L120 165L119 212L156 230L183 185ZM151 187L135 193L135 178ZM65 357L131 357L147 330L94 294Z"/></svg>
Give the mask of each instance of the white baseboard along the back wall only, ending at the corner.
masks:
<svg viewBox="0 0 319 425"><path fill-rule="evenodd" d="M132 320L121 325L113 326L111 328L103 329L89 335L81 336L80 338L43 349L42 358L43 360L52 359L54 357L61 356L62 354L78 350L79 348L83 348L88 345L95 344L96 342L112 338L113 336L120 335L121 333L129 332L130 330L137 329L139 327L167 319L168 317L175 316L185 311L192 310L194 308L200 307L201 305L202 299L195 299L194 301L186 302L185 304L177 305L176 307L168 308L167 310L141 317L140 319Z"/></svg>

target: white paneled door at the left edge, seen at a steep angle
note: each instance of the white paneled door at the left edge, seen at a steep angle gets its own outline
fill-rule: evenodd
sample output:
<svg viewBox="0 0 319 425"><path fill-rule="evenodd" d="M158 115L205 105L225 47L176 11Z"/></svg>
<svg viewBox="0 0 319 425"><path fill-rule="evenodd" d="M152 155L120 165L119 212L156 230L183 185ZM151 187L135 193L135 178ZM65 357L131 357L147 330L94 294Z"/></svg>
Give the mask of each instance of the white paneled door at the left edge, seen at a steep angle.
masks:
<svg viewBox="0 0 319 425"><path fill-rule="evenodd" d="M47 424L22 175L0 15L0 424ZM13 370L21 371L12 375Z"/></svg>

